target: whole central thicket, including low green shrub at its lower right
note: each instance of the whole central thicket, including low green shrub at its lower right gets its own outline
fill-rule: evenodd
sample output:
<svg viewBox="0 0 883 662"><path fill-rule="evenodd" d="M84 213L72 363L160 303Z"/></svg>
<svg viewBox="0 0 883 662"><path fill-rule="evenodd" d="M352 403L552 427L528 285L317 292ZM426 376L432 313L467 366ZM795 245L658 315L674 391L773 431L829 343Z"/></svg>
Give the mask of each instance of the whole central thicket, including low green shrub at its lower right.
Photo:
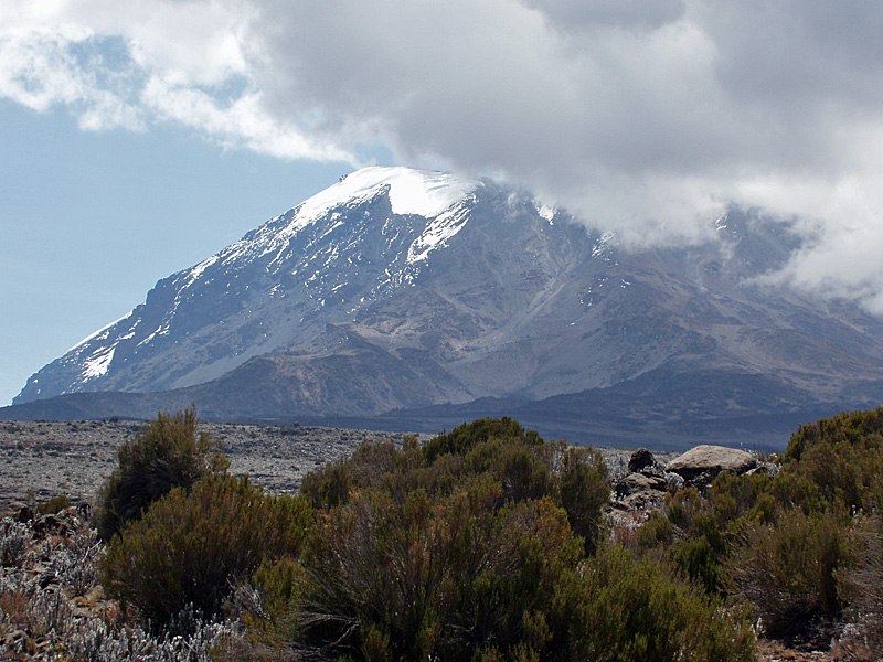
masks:
<svg viewBox="0 0 883 662"><path fill-rule="evenodd" d="M610 485L592 449L482 419L423 449L365 445L304 485L317 522L300 564L254 580L256 611L275 623L257 628L270 649L353 661L753 660L744 610L603 546Z"/></svg>

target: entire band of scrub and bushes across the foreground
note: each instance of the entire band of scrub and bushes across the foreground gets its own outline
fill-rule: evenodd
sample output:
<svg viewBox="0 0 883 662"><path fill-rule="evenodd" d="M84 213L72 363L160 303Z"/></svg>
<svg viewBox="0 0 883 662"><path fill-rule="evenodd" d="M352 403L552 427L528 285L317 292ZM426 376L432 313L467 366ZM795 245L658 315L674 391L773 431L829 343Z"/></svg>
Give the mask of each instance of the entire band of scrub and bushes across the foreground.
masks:
<svg viewBox="0 0 883 662"><path fill-rule="evenodd" d="M508 418L364 442L297 495L230 476L195 424L161 414L120 450L100 537L85 521L45 533L74 516L61 499L4 520L12 659L39 641L68 654L45 659L135 659L123 640L194 660L747 662L758 637L883 653L883 409L804 426L773 470L679 489L630 527L606 516L597 451ZM38 618L47 598L18 572L40 545L58 577L91 568L55 595L98 591L92 620Z"/></svg>

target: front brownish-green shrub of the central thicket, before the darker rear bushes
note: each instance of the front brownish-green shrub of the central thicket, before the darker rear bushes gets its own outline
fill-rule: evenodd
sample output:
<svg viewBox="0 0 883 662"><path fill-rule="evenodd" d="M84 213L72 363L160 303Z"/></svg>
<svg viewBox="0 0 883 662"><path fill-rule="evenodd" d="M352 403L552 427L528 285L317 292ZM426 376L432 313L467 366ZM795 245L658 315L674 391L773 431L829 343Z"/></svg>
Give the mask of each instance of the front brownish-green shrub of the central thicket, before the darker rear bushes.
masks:
<svg viewBox="0 0 883 662"><path fill-rule="evenodd" d="M470 661L494 649L549 655L566 638L554 597L582 544L549 499L497 508L478 480L430 502L372 490L322 519L304 558L312 581L292 629L301 650L354 659Z"/></svg>

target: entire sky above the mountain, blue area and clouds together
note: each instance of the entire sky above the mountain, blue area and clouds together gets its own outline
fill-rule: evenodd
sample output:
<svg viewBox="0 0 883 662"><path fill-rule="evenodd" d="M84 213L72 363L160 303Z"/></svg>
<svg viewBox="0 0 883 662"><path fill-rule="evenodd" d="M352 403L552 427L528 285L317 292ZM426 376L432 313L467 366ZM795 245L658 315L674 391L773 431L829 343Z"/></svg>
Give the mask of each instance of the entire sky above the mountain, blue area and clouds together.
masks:
<svg viewBox="0 0 883 662"><path fill-rule="evenodd" d="M0 0L0 404L160 278L369 164L640 247L731 204L883 314L874 0Z"/></svg>

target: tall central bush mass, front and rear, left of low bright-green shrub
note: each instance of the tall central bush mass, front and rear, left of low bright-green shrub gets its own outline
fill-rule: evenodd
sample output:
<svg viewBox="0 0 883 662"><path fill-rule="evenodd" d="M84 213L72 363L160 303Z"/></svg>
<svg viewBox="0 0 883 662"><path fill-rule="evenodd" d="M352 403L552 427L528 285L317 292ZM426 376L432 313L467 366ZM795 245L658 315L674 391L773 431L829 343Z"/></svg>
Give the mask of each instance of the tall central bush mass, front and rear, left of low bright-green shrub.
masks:
<svg viewBox="0 0 883 662"><path fill-rule="evenodd" d="M287 628L294 650L453 661L566 651L570 613L555 596L603 531L599 453L487 418L423 448L363 444L301 490L317 523L299 569L255 577L265 622ZM285 615L270 607L283 604ZM278 643L278 630L257 629Z"/></svg>

